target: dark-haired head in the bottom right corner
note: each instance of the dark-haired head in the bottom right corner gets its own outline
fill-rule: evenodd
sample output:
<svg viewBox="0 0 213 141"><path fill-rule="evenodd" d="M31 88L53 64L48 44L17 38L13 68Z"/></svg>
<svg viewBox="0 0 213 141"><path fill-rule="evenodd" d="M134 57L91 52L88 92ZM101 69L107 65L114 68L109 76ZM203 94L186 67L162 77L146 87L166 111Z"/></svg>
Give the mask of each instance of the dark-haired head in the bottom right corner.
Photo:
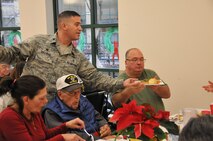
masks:
<svg viewBox="0 0 213 141"><path fill-rule="evenodd" d="M213 141L213 116L191 118L184 126L179 141Z"/></svg>

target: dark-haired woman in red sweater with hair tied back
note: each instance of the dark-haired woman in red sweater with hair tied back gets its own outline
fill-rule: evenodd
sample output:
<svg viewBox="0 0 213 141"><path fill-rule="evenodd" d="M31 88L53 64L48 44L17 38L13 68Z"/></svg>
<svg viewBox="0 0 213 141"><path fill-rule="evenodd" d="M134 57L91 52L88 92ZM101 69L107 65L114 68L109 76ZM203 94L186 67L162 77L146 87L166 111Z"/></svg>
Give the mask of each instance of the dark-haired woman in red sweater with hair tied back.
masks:
<svg viewBox="0 0 213 141"><path fill-rule="evenodd" d="M84 128L79 118L47 129L40 111L47 103L45 82L37 76L25 75L15 82L11 78L0 84L0 92L11 92L14 104L0 113L1 141L84 141L76 134L66 133L68 128Z"/></svg>

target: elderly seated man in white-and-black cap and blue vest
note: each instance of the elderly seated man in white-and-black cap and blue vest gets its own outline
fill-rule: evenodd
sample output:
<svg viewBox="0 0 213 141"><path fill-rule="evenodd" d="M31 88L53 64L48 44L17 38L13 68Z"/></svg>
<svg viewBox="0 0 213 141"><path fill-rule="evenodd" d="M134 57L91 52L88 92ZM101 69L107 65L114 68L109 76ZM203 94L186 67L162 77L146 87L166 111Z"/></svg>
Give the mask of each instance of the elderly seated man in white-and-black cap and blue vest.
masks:
<svg viewBox="0 0 213 141"><path fill-rule="evenodd" d="M42 115L48 128L60 125L63 122L80 118L85 123L85 130L70 129L69 133L76 133L88 140L95 138L108 138L111 135L107 121L98 113L89 100L81 95L83 81L75 74L60 77L56 81L57 96L43 109Z"/></svg>

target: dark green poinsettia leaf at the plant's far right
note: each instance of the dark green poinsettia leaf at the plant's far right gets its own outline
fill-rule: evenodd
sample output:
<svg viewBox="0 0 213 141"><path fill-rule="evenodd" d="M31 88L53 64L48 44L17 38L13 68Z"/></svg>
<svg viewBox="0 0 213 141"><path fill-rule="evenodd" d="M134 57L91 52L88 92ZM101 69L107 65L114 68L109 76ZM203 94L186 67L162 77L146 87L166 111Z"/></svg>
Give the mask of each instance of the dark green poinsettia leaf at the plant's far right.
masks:
<svg viewBox="0 0 213 141"><path fill-rule="evenodd" d="M159 123L161 126L165 127L170 134L174 134L174 135L179 134L179 128L177 124L175 124L174 122L169 120L160 120Z"/></svg>

